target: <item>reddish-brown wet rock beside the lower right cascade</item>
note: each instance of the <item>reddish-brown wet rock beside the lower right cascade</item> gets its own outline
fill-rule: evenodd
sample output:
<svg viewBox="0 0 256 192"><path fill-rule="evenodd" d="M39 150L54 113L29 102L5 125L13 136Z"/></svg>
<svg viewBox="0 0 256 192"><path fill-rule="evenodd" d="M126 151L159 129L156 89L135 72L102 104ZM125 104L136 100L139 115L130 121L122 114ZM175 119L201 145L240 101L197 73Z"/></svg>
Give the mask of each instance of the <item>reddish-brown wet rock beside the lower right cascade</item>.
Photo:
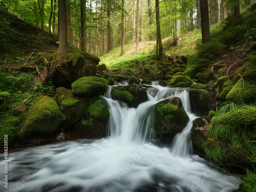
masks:
<svg viewBox="0 0 256 192"><path fill-rule="evenodd" d="M202 148L202 144L208 138L210 118L206 116L198 117L193 121L191 128L191 141L197 148Z"/></svg>

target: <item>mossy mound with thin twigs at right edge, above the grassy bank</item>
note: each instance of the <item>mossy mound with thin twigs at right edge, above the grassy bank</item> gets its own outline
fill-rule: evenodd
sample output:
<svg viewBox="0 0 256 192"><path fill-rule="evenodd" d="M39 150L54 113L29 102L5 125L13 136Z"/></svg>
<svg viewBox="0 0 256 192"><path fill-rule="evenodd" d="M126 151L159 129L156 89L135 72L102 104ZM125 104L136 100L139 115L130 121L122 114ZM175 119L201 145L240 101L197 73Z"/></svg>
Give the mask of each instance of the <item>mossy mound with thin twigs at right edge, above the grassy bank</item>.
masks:
<svg viewBox="0 0 256 192"><path fill-rule="evenodd" d="M256 82L254 80L240 79L229 91L226 97L229 101L242 101L245 103L256 100Z"/></svg>

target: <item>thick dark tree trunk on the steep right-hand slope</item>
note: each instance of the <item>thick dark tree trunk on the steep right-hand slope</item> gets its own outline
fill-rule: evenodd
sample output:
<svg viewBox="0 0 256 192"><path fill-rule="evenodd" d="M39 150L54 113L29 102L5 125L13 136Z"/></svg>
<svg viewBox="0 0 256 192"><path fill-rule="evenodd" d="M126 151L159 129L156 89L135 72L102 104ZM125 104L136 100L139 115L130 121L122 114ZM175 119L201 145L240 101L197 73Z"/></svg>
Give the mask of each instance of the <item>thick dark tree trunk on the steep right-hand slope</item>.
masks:
<svg viewBox="0 0 256 192"><path fill-rule="evenodd" d="M210 41L209 12L207 0L200 1L201 20L202 20L202 42L205 44Z"/></svg>

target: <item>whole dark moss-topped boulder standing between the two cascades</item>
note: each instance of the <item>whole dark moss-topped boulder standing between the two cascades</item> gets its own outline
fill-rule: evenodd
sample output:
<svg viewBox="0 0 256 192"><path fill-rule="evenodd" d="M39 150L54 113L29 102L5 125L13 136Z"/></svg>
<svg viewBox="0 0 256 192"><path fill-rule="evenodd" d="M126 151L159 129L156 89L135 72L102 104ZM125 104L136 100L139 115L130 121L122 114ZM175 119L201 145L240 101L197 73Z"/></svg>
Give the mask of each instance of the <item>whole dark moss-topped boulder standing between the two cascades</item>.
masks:
<svg viewBox="0 0 256 192"><path fill-rule="evenodd" d="M173 97L155 104L154 129L165 136L181 132L189 120L181 99Z"/></svg>

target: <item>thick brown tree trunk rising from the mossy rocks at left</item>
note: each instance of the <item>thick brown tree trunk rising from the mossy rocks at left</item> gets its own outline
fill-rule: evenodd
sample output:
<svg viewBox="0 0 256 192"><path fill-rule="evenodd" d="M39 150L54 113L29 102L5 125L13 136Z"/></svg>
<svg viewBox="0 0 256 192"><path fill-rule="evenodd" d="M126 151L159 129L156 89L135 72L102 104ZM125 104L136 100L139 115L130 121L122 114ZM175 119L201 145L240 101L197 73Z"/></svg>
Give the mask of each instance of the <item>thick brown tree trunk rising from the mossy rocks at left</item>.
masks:
<svg viewBox="0 0 256 192"><path fill-rule="evenodd" d="M66 16L66 0L58 0L59 10L59 49L58 55L62 58L68 53L68 26Z"/></svg>

